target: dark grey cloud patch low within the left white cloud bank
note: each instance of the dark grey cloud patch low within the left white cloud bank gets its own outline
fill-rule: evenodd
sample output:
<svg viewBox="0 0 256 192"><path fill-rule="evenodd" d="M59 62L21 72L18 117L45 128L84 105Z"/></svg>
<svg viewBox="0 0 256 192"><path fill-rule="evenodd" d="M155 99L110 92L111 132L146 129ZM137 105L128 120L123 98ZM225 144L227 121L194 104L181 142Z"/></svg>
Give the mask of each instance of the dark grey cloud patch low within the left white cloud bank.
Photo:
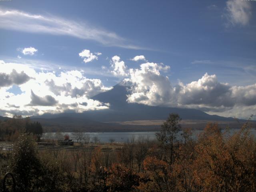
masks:
<svg viewBox="0 0 256 192"><path fill-rule="evenodd" d="M39 97L31 90L31 102L28 106L55 106L58 101L50 95Z"/></svg>

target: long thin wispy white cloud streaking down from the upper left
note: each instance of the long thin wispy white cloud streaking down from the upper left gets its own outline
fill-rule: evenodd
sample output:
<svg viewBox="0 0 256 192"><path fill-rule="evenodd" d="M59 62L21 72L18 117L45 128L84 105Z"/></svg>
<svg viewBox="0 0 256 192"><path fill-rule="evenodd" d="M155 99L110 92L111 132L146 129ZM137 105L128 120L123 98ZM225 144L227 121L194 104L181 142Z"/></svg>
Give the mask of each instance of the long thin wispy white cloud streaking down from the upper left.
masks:
<svg viewBox="0 0 256 192"><path fill-rule="evenodd" d="M104 46L117 46L129 49L144 49L129 44L128 40L114 32L97 28L86 22L76 22L53 15L40 15L20 10L5 10L0 7L0 28L29 33L67 35L85 40L94 40Z"/></svg>

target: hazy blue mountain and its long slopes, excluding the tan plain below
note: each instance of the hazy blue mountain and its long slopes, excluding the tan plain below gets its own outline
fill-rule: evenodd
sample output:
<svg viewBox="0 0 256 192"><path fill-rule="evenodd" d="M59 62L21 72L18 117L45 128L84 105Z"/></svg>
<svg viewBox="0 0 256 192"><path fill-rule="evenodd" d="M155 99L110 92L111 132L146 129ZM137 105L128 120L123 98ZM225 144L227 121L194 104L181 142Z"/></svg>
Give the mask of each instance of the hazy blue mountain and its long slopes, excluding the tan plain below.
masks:
<svg viewBox="0 0 256 192"><path fill-rule="evenodd" d="M217 115L209 115L196 109L170 108L160 106L148 106L138 103L128 103L127 87L122 84L115 85L111 90L93 96L93 100L109 103L110 108L104 110L92 110L83 113L43 114L36 118L60 118L64 116L82 118L88 122L123 122L134 120L165 120L170 113L177 113L182 120L212 120L233 121L234 118L226 118Z"/></svg>

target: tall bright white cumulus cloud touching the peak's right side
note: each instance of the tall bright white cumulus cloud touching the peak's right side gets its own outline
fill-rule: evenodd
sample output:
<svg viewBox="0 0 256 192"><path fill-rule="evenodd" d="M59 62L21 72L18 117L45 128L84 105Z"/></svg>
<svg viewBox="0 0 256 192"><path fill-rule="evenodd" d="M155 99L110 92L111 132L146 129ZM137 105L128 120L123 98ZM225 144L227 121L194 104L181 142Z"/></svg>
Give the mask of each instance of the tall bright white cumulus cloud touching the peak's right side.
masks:
<svg viewBox="0 0 256 192"><path fill-rule="evenodd" d="M160 74L169 69L170 66L156 63L144 63L140 69L130 69L132 86L127 101L152 106L170 105L173 88L168 77Z"/></svg>

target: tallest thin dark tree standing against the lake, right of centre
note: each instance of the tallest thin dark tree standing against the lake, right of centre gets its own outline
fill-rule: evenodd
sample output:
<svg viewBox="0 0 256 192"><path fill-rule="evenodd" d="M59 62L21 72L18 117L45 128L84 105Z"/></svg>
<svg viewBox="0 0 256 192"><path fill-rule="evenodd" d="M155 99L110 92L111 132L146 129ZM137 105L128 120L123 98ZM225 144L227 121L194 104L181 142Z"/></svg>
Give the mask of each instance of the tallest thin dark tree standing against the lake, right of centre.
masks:
<svg viewBox="0 0 256 192"><path fill-rule="evenodd" d="M169 114L167 120L161 125L160 132L156 133L156 138L160 142L161 146L166 150L166 154L169 156L170 164L173 162L174 154L174 142L176 135L181 126L178 124L181 118L178 114Z"/></svg>

